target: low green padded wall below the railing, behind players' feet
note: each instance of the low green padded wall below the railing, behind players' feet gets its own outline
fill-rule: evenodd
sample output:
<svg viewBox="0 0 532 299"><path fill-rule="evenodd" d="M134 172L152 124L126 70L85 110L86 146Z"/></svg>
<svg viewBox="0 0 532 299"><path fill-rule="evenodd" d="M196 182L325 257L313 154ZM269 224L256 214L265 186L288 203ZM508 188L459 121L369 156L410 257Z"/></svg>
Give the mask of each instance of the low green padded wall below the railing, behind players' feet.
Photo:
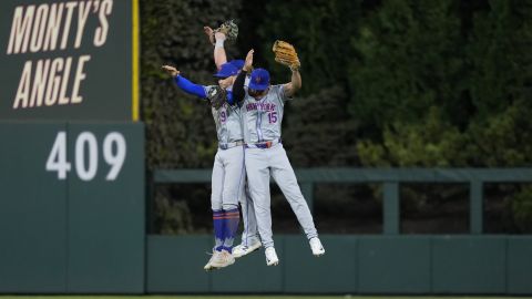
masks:
<svg viewBox="0 0 532 299"><path fill-rule="evenodd" d="M532 237L323 235L316 258L303 236L274 236L264 250L222 270L203 270L211 236L149 236L149 293L532 293Z"/></svg>

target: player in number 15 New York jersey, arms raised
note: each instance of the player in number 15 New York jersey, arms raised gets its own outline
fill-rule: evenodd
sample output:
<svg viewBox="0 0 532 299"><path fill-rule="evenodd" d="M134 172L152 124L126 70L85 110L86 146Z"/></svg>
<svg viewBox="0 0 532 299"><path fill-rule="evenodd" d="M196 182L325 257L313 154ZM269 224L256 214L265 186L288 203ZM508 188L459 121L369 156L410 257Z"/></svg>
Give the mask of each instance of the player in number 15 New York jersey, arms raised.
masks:
<svg viewBox="0 0 532 299"><path fill-rule="evenodd" d="M272 237L269 176L275 179L296 214L309 240L313 255L319 257L325 254L325 249L280 142L285 102L300 89L301 76L298 68L290 68L289 83L270 85L268 71L255 69L245 89L245 76L253 65L253 50L248 52L243 71L235 81L233 101L242 106L246 173L258 230L266 248L266 265L275 266L279 262Z"/></svg>

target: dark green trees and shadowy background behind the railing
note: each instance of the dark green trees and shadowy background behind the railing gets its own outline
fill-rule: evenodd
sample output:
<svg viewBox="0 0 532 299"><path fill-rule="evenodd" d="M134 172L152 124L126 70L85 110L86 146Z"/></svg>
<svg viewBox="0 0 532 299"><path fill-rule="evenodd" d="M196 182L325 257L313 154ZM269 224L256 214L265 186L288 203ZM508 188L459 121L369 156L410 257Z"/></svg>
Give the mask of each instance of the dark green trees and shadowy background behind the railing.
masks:
<svg viewBox="0 0 532 299"><path fill-rule="evenodd" d="M283 140L299 167L530 167L532 2L518 0L141 1L141 113L147 167L209 168L211 111L161 71L215 84L204 25L239 25L228 59L255 49L273 83L289 81L272 44L295 44L303 90L287 105ZM158 186L154 234L208 233L209 185ZM468 233L460 184L401 185L401 233ZM321 233L378 234L380 189L319 184ZM297 220L273 189L276 233ZM484 188L484 231L532 233L532 188Z"/></svg>

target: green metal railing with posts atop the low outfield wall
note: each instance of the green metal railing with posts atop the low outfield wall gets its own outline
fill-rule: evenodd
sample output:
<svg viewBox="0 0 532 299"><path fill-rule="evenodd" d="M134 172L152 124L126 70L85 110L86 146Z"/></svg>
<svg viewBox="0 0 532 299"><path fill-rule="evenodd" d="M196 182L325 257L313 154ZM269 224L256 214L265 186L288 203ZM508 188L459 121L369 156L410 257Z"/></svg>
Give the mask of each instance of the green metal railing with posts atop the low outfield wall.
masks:
<svg viewBox="0 0 532 299"><path fill-rule="evenodd" d="M211 182L211 169L156 169L154 184ZM484 183L532 183L532 168L300 168L297 181L310 209L316 183L382 184L383 234L399 234L401 183L469 183L470 234L482 234Z"/></svg>

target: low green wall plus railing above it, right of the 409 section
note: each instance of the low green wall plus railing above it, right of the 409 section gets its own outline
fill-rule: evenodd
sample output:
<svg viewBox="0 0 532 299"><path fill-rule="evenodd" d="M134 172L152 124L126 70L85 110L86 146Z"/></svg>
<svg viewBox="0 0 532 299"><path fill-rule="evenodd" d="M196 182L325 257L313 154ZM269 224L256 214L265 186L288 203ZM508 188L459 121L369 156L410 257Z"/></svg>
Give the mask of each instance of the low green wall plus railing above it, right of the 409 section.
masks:
<svg viewBox="0 0 532 299"><path fill-rule="evenodd" d="M203 271L211 236L152 235L146 292L532 293L532 236L482 234L484 184L529 183L530 168L313 168L296 176L310 208L315 183L381 184L382 235L321 235L320 258L303 236L275 235L278 267L267 267L260 250L212 274ZM209 181L209 169L153 174L155 185ZM467 183L470 233L401 235L401 183Z"/></svg>

